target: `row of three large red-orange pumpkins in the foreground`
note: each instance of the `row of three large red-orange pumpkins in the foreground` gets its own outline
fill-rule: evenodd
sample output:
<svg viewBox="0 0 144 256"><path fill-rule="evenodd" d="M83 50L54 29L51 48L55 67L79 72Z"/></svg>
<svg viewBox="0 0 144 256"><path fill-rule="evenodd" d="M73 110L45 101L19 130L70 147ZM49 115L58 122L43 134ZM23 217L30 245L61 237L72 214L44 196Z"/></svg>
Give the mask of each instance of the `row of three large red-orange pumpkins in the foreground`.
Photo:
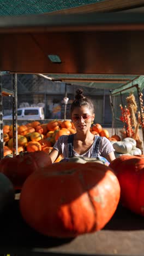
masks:
<svg viewBox="0 0 144 256"><path fill-rule="evenodd" d="M43 151L0 161L1 211L21 190L19 210L35 231L53 237L76 237L103 229L119 200L144 216L144 157L120 156L109 166L85 159L51 164ZM10 210L10 208L9 208ZM8 210L8 211L9 211ZM13 220L12 220L13 221Z"/></svg>

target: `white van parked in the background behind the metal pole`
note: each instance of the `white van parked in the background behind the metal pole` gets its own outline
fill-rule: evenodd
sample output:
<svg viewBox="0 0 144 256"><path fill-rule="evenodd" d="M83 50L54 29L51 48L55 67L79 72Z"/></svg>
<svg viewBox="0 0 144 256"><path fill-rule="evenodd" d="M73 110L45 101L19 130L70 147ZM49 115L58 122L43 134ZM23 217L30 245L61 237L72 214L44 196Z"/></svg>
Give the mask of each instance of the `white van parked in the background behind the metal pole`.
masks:
<svg viewBox="0 0 144 256"><path fill-rule="evenodd" d="M12 119L13 114L3 116L3 119ZM18 120L44 120L44 109L42 107L17 108Z"/></svg>

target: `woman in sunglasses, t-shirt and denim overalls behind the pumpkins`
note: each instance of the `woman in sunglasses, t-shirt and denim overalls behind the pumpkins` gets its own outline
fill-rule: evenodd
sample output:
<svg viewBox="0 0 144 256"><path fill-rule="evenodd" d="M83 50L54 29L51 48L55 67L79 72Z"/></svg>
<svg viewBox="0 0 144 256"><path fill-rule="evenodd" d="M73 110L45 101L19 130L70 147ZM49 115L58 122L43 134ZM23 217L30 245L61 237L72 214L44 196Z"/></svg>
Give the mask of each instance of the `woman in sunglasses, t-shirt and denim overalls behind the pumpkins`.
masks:
<svg viewBox="0 0 144 256"><path fill-rule="evenodd" d="M49 154L52 162L60 154L63 158L80 155L89 158L103 156L109 162L115 159L109 139L93 135L90 131L94 120L94 106L93 102L82 94L82 90L76 91L75 101L71 104L71 120L76 127L76 133L58 138Z"/></svg>

